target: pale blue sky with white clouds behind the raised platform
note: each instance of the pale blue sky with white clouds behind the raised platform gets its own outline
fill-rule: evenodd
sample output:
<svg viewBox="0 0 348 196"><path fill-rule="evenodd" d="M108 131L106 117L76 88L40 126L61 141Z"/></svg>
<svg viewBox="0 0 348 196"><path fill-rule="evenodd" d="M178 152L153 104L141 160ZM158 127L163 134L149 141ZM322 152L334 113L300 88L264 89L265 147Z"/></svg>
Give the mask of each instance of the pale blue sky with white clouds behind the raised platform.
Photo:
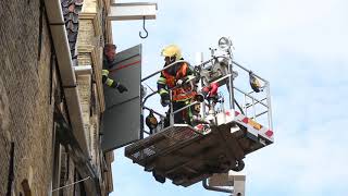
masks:
<svg viewBox="0 0 348 196"><path fill-rule="evenodd" d="M347 195L348 1L159 0L158 7L157 20L146 22L147 39L138 37L142 21L113 23L117 49L142 44L142 75L163 65L167 44L194 61L228 36L235 60L271 82L275 143L247 156L248 196ZM113 196L226 195L200 183L162 185L122 155Z"/></svg>

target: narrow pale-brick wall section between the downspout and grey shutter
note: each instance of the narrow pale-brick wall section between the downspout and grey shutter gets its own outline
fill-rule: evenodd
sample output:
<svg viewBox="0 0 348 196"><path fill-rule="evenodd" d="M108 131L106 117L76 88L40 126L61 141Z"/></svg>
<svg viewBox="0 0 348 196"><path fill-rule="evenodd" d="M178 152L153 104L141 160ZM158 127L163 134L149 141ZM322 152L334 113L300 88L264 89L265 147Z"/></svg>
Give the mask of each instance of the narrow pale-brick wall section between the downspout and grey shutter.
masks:
<svg viewBox="0 0 348 196"><path fill-rule="evenodd" d="M80 86L79 94L85 95L85 99L94 98L92 103L87 103L83 106L84 110L84 118L89 122L89 147L90 147L90 155L94 164L97 168L101 179L101 188L102 192L107 195L108 193L113 191L112 187L112 172L111 172L111 162L113 161L113 154L108 154L104 159L104 155L100 154L100 137L99 137L99 119L100 112L104 110L104 102L103 102L103 93L102 93L102 84L101 84L101 68L102 68L102 48L103 47L103 29L104 21L102 20L102 12L103 10L103 1L102 0L85 0L84 7L82 12L79 13L79 30L77 36L77 51L78 51L78 65L91 65L92 66L92 84L87 83L90 82L90 78L78 78L78 83L80 84L88 84ZM105 34L110 36L109 32ZM109 40L109 39L108 39ZM87 91L91 93L88 97ZM89 119L87 118L87 107L90 109L91 113ZM86 122L87 122L86 121ZM104 168L102 161L107 163L108 168ZM108 169L108 172L104 170Z"/></svg>

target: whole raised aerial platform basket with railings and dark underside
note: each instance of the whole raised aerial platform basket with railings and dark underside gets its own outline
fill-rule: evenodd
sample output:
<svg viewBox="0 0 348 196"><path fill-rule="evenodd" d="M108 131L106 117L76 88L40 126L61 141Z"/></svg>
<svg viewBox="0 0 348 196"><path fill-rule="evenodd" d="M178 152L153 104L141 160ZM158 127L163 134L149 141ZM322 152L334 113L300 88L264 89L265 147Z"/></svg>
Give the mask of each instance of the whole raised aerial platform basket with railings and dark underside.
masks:
<svg viewBox="0 0 348 196"><path fill-rule="evenodd" d="M233 61L231 42L221 49L225 54L215 56L215 50L211 50L212 58L195 66L201 87L211 83L219 83L219 89L226 86L215 100L200 103L202 121L192 125L174 123L176 112L197 105L197 101L176 111L171 106L165 115L145 106L147 99L158 91L142 97L142 117L148 110L161 121L150 133L142 126L148 137L127 146L125 156L144 167L145 171L152 172L161 183L170 179L174 184L186 187L214 173L241 171L245 167L243 159L248 154L273 143L269 82ZM163 70L178 62L182 61ZM163 70L142 78L141 83ZM250 79L252 91L236 87L236 77L243 77L243 72L247 73L246 79ZM171 94L172 89L169 90ZM228 97L228 109L225 109L224 97ZM241 105L240 100L244 101ZM165 118L170 118L166 127L163 125Z"/></svg>

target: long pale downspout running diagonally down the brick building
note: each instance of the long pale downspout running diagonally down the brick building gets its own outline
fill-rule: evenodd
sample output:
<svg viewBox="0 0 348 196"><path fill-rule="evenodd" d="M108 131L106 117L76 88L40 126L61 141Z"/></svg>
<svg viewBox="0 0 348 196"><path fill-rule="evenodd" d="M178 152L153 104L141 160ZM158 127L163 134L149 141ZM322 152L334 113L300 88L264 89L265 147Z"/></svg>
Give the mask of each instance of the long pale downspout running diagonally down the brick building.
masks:
<svg viewBox="0 0 348 196"><path fill-rule="evenodd" d="M77 83L67 42L60 0L45 0L50 32L62 79L73 134L78 138L83 152L88 156L87 138L77 91Z"/></svg>

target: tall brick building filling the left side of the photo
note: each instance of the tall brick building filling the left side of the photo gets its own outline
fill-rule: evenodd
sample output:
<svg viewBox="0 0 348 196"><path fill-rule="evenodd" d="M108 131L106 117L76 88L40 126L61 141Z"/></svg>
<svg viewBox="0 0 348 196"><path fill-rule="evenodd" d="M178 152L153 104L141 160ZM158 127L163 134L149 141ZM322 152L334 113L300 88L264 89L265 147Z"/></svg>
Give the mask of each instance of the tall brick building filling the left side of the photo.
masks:
<svg viewBox="0 0 348 196"><path fill-rule="evenodd" d="M100 149L109 0L0 2L0 195L108 195Z"/></svg>

